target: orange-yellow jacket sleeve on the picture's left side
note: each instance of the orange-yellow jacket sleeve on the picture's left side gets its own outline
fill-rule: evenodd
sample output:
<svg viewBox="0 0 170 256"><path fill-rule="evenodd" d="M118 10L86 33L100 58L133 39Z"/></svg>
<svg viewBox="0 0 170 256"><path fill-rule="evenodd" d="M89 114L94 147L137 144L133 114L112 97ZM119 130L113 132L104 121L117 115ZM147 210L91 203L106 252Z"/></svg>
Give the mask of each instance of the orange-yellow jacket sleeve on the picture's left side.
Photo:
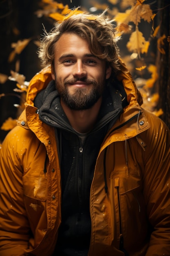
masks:
<svg viewBox="0 0 170 256"><path fill-rule="evenodd" d="M24 256L28 249L29 222L23 200L22 166L15 153L15 128L0 149L0 256ZM20 152L20 154L22 154Z"/></svg>

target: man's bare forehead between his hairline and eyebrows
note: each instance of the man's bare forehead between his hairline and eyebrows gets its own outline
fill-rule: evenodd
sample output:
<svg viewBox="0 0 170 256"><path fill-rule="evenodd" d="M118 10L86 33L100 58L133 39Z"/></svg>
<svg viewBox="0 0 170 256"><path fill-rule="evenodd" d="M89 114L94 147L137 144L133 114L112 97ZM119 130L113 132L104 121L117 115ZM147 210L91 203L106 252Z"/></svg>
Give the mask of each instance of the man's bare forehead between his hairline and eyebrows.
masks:
<svg viewBox="0 0 170 256"><path fill-rule="evenodd" d="M91 53L86 39L74 33L64 33L55 43L55 55L62 55L63 53Z"/></svg>

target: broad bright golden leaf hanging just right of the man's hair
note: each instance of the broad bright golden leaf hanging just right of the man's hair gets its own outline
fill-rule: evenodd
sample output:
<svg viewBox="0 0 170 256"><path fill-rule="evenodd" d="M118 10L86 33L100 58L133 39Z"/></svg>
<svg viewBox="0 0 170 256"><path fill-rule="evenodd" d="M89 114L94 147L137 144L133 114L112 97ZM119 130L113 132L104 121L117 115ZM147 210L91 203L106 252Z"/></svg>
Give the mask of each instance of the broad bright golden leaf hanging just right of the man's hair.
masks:
<svg viewBox="0 0 170 256"><path fill-rule="evenodd" d="M127 48L130 52L137 52L140 56L141 49L145 47L146 40L138 28L130 35Z"/></svg>

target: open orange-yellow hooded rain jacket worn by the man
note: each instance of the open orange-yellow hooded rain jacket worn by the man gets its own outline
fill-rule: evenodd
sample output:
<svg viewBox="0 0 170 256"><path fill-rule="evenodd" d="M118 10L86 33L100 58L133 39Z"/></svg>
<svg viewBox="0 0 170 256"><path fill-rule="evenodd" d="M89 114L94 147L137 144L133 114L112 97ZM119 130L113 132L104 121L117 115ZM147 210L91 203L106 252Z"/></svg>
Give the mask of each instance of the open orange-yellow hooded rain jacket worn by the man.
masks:
<svg viewBox="0 0 170 256"><path fill-rule="evenodd" d="M51 79L49 67L33 77L25 110L0 149L0 256L51 256L55 248L60 164L54 128L40 121L33 106ZM129 256L170 256L170 131L141 108L141 95L123 63L117 79L129 104L97 157L88 255L124 256L123 237Z"/></svg>

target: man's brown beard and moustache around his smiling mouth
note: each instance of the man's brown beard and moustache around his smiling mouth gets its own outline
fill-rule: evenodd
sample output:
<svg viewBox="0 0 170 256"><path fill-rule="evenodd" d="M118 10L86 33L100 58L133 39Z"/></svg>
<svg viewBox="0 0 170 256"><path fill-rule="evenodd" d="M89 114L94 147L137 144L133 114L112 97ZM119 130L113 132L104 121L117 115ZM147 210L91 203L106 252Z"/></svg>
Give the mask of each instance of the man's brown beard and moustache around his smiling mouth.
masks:
<svg viewBox="0 0 170 256"><path fill-rule="evenodd" d="M75 83L78 81L91 83L91 88L75 88L74 92L70 93L68 88L71 85L69 83ZM57 79L55 76L55 85L62 98L63 102L71 110L87 110L92 108L100 97L102 97L104 91L105 81L102 79L97 83L93 79L70 79L64 80L64 83L61 79Z"/></svg>

